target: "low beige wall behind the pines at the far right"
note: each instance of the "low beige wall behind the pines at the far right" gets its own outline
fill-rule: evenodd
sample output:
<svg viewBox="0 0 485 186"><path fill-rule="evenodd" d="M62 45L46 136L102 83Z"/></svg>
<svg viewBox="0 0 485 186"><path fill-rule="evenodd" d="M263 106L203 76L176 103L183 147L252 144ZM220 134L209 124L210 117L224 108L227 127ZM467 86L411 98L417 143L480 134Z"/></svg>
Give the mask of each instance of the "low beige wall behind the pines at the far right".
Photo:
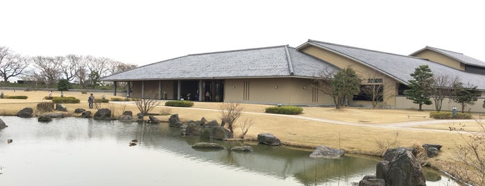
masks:
<svg viewBox="0 0 485 186"><path fill-rule="evenodd" d="M413 101L406 99L406 96L398 96L396 108L398 109L418 109L419 105L413 103ZM433 101L433 100L432 100ZM465 111L470 109L471 112L484 112L485 109L483 108L484 98L479 98L478 101L475 101L475 105L468 105L465 107ZM443 105L441 106L441 110L443 111L451 111L452 107L456 106L458 111L461 111L461 105L459 103L454 103L450 101L450 99L444 99ZM423 110L436 110L434 108L434 101L431 105L423 105Z"/></svg>

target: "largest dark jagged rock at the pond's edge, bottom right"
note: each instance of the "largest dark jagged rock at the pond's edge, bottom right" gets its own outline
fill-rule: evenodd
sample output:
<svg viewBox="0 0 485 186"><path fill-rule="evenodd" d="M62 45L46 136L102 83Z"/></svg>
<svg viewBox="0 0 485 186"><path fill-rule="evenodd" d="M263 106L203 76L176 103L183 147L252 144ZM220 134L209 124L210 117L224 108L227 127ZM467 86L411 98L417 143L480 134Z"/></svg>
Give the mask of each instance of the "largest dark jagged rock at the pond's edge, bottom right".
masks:
<svg viewBox="0 0 485 186"><path fill-rule="evenodd" d="M388 149L384 160L377 164L376 177L388 186L426 185L421 165L405 148Z"/></svg>

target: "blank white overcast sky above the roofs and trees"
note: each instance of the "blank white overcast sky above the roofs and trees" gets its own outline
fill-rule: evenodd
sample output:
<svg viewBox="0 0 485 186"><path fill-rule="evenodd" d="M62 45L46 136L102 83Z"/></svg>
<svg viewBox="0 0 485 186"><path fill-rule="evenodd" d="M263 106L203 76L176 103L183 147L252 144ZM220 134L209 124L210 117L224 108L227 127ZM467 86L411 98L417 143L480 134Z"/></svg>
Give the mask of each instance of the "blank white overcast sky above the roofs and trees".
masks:
<svg viewBox="0 0 485 186"><path fill-rule="evenodd" d="M485 61L484 7L482 1L1 0L0 46L27 56L74 53L147 65L312 39L402 55L430 46Z"/></svg>

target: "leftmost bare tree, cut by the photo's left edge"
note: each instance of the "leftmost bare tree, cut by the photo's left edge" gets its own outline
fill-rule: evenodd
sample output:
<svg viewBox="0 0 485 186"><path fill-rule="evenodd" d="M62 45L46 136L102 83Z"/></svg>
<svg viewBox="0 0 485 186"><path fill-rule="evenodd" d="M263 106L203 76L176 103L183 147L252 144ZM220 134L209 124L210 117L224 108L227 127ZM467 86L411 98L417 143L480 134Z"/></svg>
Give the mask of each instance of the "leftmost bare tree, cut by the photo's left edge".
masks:
<svg viewBox="0 0 485 186"><path fill-rule="evenodd" d="M0 47L0 76L3 81L8 82L8 78L21 75L29 62L28 58L10 51L8 47Z"/></svg>

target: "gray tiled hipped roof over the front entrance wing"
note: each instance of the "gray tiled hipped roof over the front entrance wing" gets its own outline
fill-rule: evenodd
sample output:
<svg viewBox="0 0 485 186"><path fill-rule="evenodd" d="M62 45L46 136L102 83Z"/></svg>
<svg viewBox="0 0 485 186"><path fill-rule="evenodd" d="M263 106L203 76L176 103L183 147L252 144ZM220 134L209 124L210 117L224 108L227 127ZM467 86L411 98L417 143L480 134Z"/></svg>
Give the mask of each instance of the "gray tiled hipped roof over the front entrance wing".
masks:
<svg viewBox="0 0 485 186"><path fill-rule="evenodd" d="M289 55L289 56L288 56ZM308 77L336 68L287 46L199 53L112 74L103 81L162 79ZM293 71L291 71L293 70ZM293 73L292 73L293 72Z"/></svg>

